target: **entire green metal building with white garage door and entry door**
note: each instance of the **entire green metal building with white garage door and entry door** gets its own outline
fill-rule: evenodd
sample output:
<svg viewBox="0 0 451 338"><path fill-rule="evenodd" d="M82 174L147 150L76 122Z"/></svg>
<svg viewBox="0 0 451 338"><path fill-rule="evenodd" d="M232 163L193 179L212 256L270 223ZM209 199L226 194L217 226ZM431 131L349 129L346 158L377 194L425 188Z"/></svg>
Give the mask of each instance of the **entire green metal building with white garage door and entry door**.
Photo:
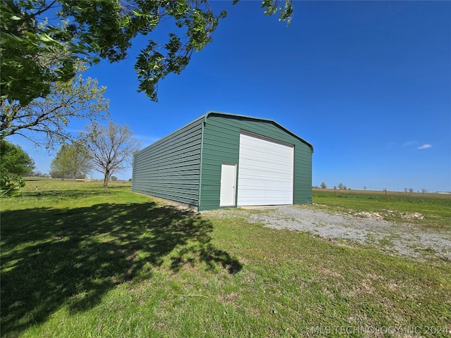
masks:
<svg viewBox="0 0 451 338"><path fill-rule="evenodd" d="M211 111L135 154L132 191L198 211L311 204L312 153L273 120Z"/></svg>

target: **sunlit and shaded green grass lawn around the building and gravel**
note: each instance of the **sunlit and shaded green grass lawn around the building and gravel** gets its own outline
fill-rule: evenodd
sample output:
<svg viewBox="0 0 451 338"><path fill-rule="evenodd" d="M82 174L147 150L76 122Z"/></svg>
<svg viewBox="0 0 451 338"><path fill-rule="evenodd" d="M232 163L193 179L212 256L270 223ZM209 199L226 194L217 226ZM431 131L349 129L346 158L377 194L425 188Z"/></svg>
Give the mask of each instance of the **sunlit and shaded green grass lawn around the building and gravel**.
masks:
<svg viewBox="0 0 451 338"><path fill-rule="evenodd" d="M419 201L420 225L445 231L445 202ZM2 337L451 335L449 261L180 211L128 182L30 180L0 203Z"/></svg>

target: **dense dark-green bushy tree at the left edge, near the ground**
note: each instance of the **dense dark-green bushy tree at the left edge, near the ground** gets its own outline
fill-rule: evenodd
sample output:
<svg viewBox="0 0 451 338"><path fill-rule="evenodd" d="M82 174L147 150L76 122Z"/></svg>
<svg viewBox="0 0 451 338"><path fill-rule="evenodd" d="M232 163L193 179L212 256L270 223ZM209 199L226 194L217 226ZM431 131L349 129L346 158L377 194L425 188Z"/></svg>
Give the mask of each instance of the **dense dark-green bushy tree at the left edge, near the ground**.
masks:
<svg viewBox="0 0 451 338"><path fill-rule="evenodd" d="M0 196L20 194L25 187L21 175L35 168L35 161L20 146L0 140Z"/></svg>

